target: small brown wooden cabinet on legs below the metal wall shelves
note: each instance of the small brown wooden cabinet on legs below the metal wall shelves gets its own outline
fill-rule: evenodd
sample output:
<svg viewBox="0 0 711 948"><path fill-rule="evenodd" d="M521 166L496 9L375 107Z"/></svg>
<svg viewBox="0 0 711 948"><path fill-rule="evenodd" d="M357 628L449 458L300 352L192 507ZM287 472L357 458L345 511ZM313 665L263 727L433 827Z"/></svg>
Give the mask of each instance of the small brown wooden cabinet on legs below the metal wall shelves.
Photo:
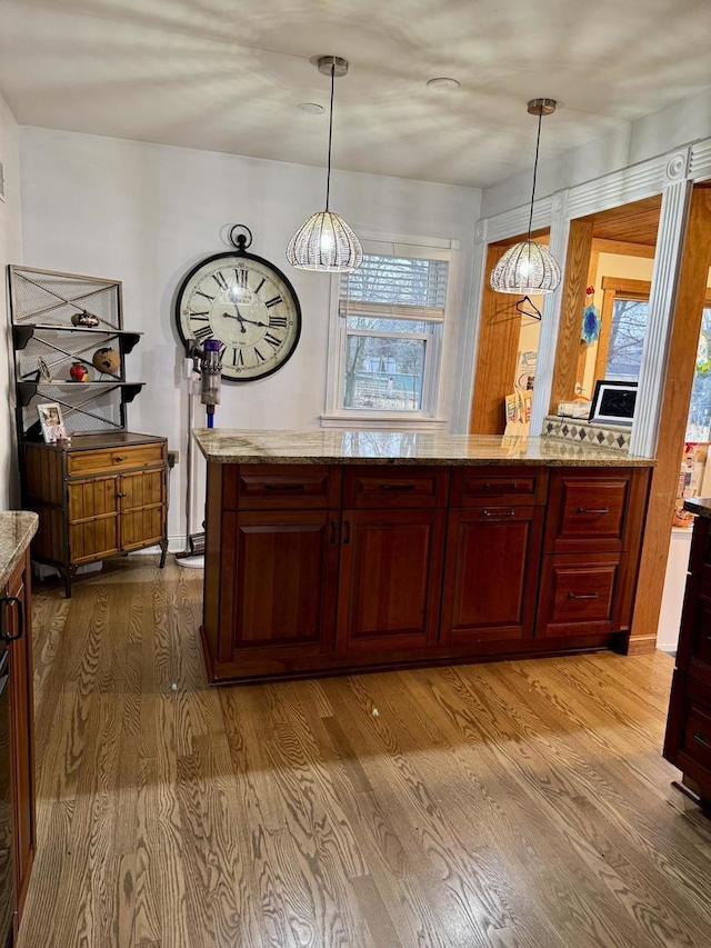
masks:
<svg viewBox="0 0 711 948"><path fill-rule="evenodd" d="M164 438L76 436L69 447L23 446L24 505L40 517L32 557L56 566L67 596L82 563L168 549Z"/></svg>

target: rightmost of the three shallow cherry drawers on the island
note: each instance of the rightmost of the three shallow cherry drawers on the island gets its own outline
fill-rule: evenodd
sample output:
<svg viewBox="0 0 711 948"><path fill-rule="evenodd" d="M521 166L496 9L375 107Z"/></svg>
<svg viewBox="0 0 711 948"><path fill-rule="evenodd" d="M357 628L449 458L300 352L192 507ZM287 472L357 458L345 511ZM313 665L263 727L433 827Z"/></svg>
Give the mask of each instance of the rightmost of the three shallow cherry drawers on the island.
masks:
<svg viewBox="0 0 711 948"><path fill-rule="evenodd" d="M542 468L455 468L450 506L539 505L545 502L547 487L548 471Z"/></svg>

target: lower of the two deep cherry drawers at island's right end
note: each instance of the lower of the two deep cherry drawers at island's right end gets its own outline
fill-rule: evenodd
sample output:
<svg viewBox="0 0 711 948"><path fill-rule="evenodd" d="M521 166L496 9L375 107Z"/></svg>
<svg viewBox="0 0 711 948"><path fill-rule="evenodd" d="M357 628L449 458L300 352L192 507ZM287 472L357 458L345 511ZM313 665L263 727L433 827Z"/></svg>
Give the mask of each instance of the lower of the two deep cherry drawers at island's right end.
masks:
<svg viewBox="0 0 711 948"><path fill-rule="evenodd" d="M621 557L605 553L543 557L537 635L617 631Z"/></svg>

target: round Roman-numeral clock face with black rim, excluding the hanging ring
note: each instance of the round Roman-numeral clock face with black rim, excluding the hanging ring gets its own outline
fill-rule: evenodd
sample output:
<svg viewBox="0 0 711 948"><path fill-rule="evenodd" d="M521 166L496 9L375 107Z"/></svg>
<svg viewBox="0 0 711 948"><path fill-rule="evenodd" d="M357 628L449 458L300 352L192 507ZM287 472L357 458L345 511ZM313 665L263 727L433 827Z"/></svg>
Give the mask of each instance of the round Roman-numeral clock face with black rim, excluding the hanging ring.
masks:
<svg viewBox="0 0 711 948"><path fill-rule="evenodd" d="M273 265L251 253L219 253L188 273L176 302L183 342L217 339L222 378L247 382L280 369L301 333L293 287Z"/></svg>

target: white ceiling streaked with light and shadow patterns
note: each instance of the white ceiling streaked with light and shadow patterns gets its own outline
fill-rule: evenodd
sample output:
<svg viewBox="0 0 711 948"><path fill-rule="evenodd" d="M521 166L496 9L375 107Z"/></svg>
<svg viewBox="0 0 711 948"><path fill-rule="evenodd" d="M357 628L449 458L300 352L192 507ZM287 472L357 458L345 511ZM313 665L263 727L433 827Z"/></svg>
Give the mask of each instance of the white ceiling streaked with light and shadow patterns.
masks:
<svg viewBox="0 0 711 948"><path fill-rule="evenodd" d="M708 0L0 0L22 124L484 188L711 87ZM461 83L452 93L425 86ZM303 102L327 108L320 116Z"/></svg>

